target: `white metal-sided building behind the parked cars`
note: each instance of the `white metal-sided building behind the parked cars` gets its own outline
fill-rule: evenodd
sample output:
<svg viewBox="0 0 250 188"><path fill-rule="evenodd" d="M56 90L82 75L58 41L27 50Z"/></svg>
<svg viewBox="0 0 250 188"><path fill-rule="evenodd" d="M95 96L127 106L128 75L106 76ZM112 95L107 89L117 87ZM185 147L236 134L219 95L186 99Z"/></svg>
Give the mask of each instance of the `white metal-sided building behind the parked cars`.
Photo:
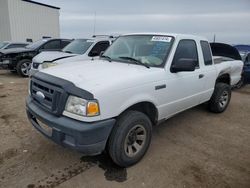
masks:
<svg viewBox="0 0 250 188"><path fill-rule="evenodd" d="M60 37L59 10L30 0L0 0L0 41Z"/></svg>

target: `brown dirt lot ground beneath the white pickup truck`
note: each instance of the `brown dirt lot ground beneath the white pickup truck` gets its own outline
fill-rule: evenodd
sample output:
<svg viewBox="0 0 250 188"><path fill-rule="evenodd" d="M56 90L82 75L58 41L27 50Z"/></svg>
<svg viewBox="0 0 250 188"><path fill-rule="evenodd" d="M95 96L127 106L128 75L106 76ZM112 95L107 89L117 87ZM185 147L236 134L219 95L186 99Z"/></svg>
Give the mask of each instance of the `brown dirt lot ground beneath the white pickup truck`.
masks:
<svg viewBox="0 0 250 188"><path fill-rule="evenodd" d="M250 87L229 108L205 106L156 126L137 165L84 157L44 138L27 121L28 79L0 70L0 187L250 187Z"/></svg>

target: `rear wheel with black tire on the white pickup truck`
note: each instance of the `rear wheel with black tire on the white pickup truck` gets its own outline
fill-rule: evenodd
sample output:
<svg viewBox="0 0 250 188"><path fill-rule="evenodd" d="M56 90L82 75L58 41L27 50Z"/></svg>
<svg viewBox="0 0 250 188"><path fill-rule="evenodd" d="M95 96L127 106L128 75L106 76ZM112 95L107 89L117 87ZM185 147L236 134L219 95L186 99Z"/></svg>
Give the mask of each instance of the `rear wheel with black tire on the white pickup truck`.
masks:
<svg viewBox="0 0 250 188"><path fill-rule="evenodd" d="M230 102L230 99L231 87L225 83L217 83L208 104L209 110L214 113L224 112Z"/></svg>

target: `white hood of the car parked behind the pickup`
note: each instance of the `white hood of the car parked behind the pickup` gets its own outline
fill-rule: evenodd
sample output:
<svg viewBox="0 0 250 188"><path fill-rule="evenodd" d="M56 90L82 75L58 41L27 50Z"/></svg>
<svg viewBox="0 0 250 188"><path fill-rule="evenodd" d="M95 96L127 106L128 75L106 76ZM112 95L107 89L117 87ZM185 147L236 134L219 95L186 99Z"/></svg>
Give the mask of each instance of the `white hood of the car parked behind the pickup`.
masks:
<svg viewBox="0 0 250 188"><path fill-rule="evenodd" d="M77 54L70 54L65 52L42 52L33 58L33 62L43 63L44 61L56 61L59 59L65 59L76 56Z"/></svg>

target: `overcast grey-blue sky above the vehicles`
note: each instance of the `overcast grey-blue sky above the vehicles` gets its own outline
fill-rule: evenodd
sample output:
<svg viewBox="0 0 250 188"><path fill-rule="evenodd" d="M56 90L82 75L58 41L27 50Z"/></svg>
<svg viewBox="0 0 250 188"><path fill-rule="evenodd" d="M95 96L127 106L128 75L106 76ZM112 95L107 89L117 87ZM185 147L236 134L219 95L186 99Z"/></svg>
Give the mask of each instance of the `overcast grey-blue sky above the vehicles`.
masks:
<svg viewBox="0 0 250 188"><path fill-rule="evenodd" d="M187 33L250 44L250 0L35 1L61 8L61 37L90 37L95 25L95 34Z"/></svg>

